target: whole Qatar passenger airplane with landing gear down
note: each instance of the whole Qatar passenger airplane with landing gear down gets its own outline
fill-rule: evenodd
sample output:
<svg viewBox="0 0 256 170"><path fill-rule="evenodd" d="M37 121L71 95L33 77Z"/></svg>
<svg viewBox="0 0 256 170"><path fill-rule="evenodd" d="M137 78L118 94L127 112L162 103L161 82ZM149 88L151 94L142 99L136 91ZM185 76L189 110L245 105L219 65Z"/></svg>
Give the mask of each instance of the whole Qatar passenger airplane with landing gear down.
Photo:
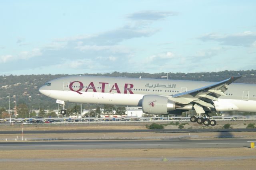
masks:
<svg viewBox="0 0 256 170"><path fill-rule="evenodd" d="M147 114L180 115L195 110L191 122L216 125L211 111L256 111L256 84L233 83L242 76L221 82L123 78L104 76L67 76L50 80L40 93L65 102L142 106ZM66 110L61 110L66 114Z"/></svg>

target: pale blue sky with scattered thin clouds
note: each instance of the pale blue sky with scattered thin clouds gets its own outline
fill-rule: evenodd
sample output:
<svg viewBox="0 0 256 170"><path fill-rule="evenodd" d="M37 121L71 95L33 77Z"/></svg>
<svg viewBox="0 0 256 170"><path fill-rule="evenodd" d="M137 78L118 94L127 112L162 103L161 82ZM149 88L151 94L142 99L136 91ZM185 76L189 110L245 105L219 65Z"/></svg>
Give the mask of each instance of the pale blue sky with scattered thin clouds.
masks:
<svg viewBox="0 0 256 170"><path fill-rule="evenodd" d="M0 75L256 69L255 0L0 1Z"/></svg>

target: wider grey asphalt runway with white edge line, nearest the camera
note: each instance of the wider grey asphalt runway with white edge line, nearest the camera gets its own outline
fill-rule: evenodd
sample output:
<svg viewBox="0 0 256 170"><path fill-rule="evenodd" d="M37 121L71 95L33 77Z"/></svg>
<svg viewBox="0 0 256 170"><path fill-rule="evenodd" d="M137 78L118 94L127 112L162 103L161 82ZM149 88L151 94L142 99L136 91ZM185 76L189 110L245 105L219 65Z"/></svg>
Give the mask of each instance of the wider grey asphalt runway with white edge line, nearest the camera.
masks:
<svg viewBox="0 0 256 170"><path fill-rule="evenodd" d="M96 140L1 142L0 150L46 149L160 149L160 148L234 148L250 147L256 139L173 139L173 140Z"/></svg>

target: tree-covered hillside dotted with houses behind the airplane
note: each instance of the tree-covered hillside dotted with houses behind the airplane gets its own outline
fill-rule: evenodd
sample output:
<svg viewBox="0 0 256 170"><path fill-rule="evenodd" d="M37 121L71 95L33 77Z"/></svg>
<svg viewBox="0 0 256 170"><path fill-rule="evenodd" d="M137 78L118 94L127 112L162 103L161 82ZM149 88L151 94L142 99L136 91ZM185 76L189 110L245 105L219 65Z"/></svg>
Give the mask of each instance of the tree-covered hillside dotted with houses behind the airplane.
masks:
<svg viewBox="0 0 256 170"><path fill-rule="evenodd" d="M139 78L159 78L166 79L167 74L161 73L128 73L128 72L112 72L107 74L84 74L93 76L117 76L117 77L134 77ZM55 109L56 101L48 98L38 91L38 89L48 80L69 76L67 74L42 74L42 75L10 75L0 76L0 107L8 109L9 100L8 93L10 93L10 108L14 108L14 101L16 104L26 104L29 108L38 109L39 106L44 109ZM238 83L253 83L256 84L256 70L246 71L222 71L222 72L198 72L198 73L172 73L168 72L168 79L176 80L199 80L218 82L230 78L231 76L246 76L237 80Z"/></svg>

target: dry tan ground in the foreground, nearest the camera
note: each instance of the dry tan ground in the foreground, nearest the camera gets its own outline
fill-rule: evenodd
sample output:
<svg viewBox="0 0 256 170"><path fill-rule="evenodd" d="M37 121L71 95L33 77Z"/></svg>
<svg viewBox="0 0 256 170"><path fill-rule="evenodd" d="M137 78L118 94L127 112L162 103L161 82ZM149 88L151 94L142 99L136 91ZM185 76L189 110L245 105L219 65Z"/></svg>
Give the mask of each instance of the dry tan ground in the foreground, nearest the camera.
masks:
<svg viewBox="0 0 256 170"><path fill-rule="evenodd" d="M0 170L255 170L255 167L256 149L249 148L0 151Z"/></svg>

